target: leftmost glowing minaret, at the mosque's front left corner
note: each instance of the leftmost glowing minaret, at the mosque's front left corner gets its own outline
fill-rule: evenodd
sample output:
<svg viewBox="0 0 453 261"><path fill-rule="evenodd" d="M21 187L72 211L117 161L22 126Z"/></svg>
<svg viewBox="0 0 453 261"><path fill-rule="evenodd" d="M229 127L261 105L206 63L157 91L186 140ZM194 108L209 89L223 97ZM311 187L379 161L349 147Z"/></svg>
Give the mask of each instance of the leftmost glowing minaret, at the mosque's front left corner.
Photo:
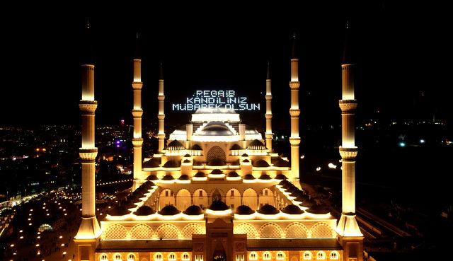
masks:
<svg viewBox="0 0 453 261"><path fill-rule="evenodd" d="M86 32L89 35L90 26L87 23ZM90 45L90 39L87 35ZM88 52L87 52L88 53ZM79 156L81 158L82 169L82 221L77 235L74 237L76 242L76 254L80 260L80 253L93 252L88 258L94 259L93 244L96 238L101 236L101 228L96 219L96 192L95 192L95 159L98 154L98 148L94 144L95 122L94 116L98 103L94 100L94 65L93 58L88 57L82 64L82 97L79 102L81 110L82 128L81 128L81 148Z"/></svg>

